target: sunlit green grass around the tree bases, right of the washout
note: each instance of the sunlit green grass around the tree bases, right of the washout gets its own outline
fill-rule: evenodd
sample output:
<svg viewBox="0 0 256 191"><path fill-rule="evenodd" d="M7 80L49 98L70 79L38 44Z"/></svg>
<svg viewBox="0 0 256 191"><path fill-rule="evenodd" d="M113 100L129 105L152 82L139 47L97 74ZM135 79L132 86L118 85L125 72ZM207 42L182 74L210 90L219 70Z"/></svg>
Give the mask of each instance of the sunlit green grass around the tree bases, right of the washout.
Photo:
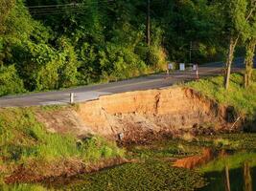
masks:
<svg viewBox="0 0 256 191"><path fill-rule="evenodd" d="M256 79L256 70L253 71ZM224 105L234 106L234 108L247 117L256 115L256 80L252 85L244 89L243 74L231 74L230 87L226 91L223 87L223 76L213 76L186 84L205 96L209 96Z"/></svg>

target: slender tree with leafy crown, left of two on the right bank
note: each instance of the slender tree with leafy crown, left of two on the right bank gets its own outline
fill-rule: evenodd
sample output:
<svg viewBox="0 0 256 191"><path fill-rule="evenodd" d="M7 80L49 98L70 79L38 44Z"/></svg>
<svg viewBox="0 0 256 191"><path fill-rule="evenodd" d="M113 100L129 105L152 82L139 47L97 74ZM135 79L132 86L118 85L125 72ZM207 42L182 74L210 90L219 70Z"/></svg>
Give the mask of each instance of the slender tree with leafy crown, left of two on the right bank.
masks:
<svg viewBox="0 0 256 191"><path fill-rule="evenodd" d="M227 90L229 87L229 78L231 72L231 65L234 58L234 52L238 41L241 37L248 35L247 25L251 21L256 11L255 0L230 0L223 3L223 11L226 15L225 22L227 26L227 33L229 36L229 47L225 62L225 76L224 86ZM251 34L249 34L251 35Z"/></svg>

